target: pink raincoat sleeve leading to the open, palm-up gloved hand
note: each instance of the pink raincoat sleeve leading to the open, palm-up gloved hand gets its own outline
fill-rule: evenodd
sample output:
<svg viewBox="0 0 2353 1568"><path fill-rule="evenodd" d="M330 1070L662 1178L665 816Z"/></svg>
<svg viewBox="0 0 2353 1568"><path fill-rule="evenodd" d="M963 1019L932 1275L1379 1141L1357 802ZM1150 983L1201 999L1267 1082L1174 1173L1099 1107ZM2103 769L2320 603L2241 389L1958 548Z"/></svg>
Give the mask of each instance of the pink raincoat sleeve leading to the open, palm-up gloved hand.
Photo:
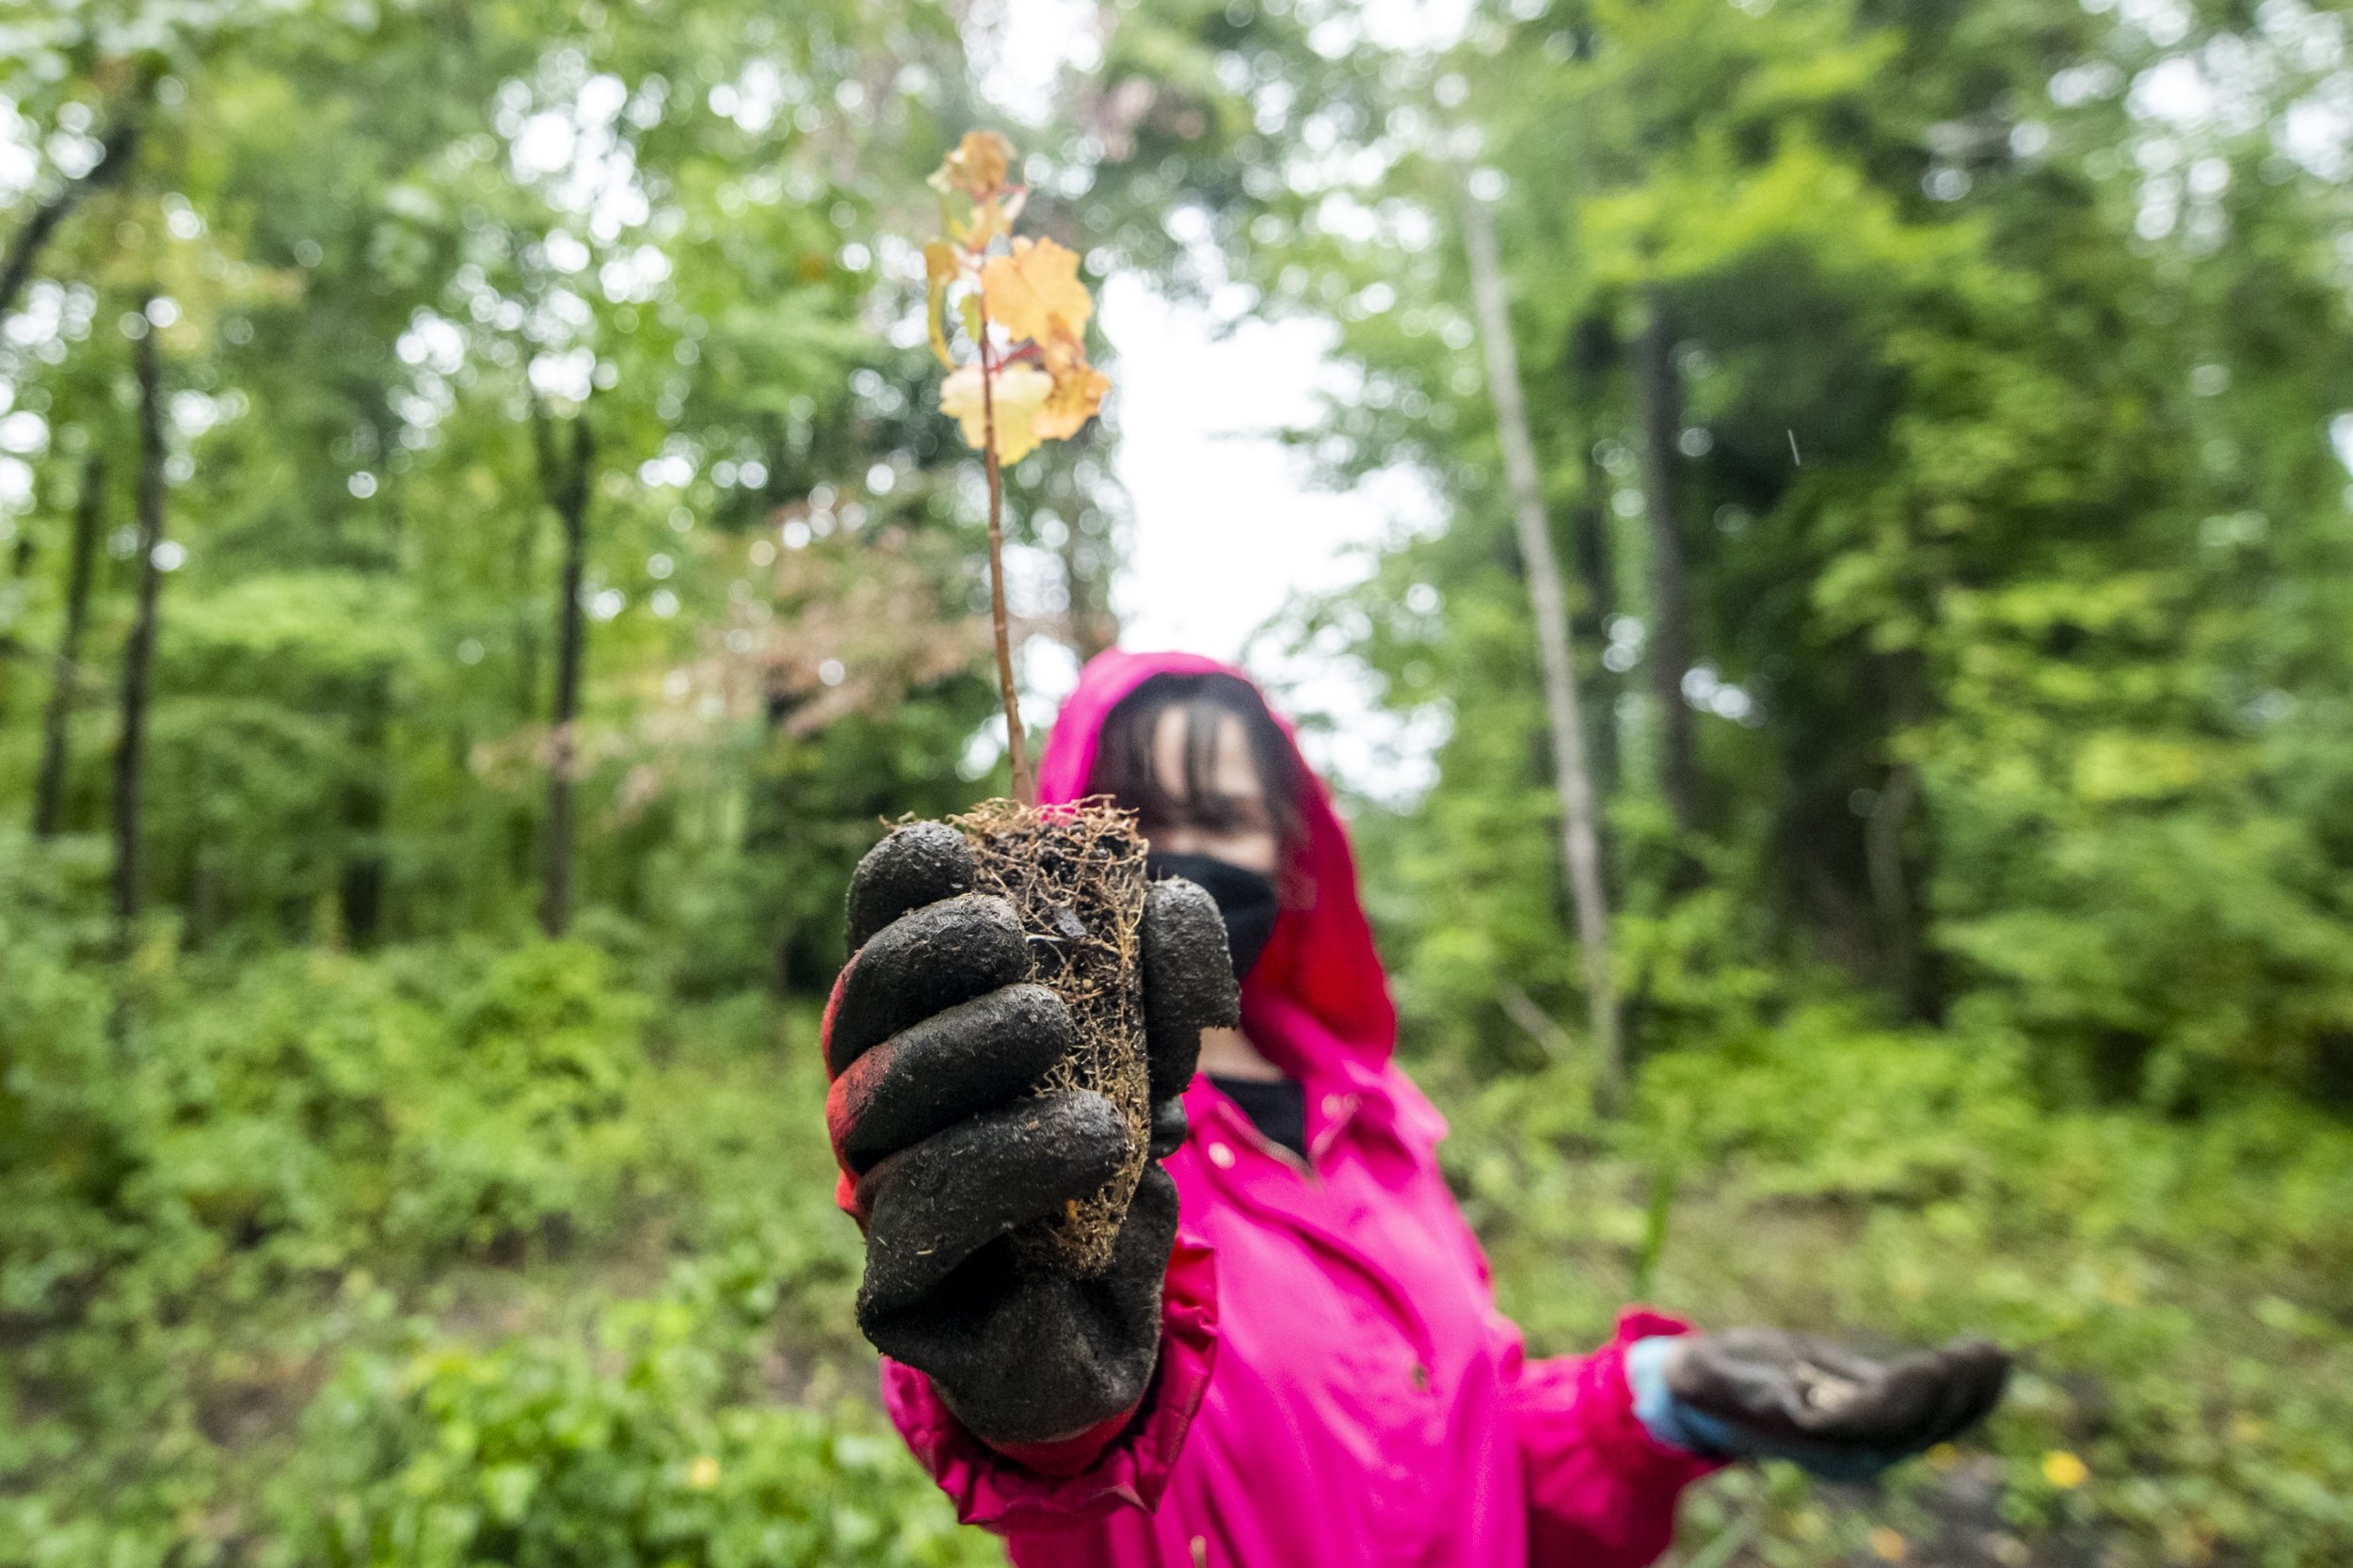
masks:
<svg viewBox="0 0 2353 1568"><path fill-rule="evenodd" d="M1689 1333L1654 1311L1626 1311L1591 1356L1529 1361L1513 1384L1527 1471L1529 1568L1642 1568L1675 1535L1682 1488L1715 1462L1659 1443L1633 1413L1626 1347Z"/></svg>

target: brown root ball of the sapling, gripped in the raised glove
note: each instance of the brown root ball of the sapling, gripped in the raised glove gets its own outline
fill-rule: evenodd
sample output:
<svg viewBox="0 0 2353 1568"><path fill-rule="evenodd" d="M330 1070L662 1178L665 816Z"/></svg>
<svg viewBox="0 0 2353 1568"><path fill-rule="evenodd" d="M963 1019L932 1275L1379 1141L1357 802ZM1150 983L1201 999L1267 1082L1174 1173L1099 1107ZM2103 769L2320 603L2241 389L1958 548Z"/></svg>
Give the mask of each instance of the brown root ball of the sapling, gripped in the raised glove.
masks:
<svg viewBox="0 0 2353 1568"><path fill-rule="evenodd" d="M972 843L974 892L1005 899L1028 935L1031 979L1071 1010L1075 1043L1038 1092L1092 1090L1127 1123L1127 1161L1094 1196L1014 1245L1073 1274L1099 1274L1151 1156L1144 1052L1144 836L1108 798L1033 808L984 800L951 824Z"/></svg>

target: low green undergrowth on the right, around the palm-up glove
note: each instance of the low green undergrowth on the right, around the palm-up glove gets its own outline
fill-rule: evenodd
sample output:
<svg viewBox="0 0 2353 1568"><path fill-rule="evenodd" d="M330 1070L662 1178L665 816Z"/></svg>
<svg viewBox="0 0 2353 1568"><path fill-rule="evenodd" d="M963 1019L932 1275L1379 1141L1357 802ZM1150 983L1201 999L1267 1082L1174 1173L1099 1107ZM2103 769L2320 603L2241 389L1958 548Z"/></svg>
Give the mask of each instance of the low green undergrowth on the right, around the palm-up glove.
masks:
<svg viewBox="0 0 2353 1568"><path fill-rule="evenodd" d="M2017 1561L2092 1537L2115 1563L2339 1561L2353 1132L2280 1095L2191 1123L2054 1114L2035 1078L2017 1036L1807 1008L1744 1048L1657 1057L1626 1123L1569 1109L1574 1067L1468 1092L1447 1165L1539 1349L1591 1344L1640 1283L1664 1177L1664 1307L2021 1351L1991 1453L1899 1476L1861 1516L1793 1476L1722 1488L1692 1547L1753 1526L1765 1561L1852 1561L1880 1523L1927 1561L1988 1530L2035 1554ZM2061 1486L2052 1455L2087 1479Z"/></svg>

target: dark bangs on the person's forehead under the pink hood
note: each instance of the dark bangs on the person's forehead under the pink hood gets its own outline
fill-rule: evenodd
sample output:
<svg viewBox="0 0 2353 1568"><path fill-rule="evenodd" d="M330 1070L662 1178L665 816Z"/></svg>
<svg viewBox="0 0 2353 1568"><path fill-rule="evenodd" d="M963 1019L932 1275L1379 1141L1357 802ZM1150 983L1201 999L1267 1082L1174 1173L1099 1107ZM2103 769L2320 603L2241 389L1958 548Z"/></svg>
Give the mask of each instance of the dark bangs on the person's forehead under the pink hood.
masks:
<svg viewBox="0 0 2353 1568"><path fill-rule="evenodd" d="M1153 751L1153 735L1160 716L1184 709L1184 793L1172 791L1172 779L1160 777ZM1155 822L1184 817L1209 829L1247 829L1252 822L1238 800L1214 789L1217 779L1217 730L1219 720L1233 713L1242 720L1249 760L1259 772L1259 789L1266 791L1266 812L1275 838L1285 852L1299 843L1299 777L1292 758L1292 742L1282 725L1266 711L1259 687L1235 676L1153 676L1111 709L1104 732L1094 746L1094 772L1087 775L1089 796L1111 796L1144 819L1151 833Z"/></svg>

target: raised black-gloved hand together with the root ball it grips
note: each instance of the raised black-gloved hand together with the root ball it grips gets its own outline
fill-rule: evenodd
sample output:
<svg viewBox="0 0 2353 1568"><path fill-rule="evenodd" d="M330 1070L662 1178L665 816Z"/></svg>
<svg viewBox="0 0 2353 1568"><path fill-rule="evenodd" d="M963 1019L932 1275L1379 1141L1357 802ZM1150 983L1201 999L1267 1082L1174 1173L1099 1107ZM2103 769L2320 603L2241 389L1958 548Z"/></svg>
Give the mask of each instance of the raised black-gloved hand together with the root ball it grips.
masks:
<svg viewBox="0 0 2353 1568"><path fill-rule="evenodd" d="M1146 888L1125 812L991 803L875 845L849 942L826 1121L866 1229L859 1328L1000 1446L1134 1408L1176 1238L1158 1158L1200 1031L1238 1017L1217 904Z"/></svg>

